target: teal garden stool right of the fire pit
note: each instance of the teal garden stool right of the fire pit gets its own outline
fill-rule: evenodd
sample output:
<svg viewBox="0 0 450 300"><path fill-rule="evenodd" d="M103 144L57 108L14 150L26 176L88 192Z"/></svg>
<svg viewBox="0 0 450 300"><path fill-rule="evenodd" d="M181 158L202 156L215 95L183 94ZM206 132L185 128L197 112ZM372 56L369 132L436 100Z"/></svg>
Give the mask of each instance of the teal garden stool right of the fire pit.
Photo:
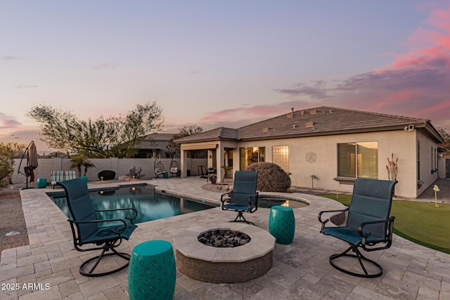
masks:
<svg viewBox="0 0 450 300"><path fill-rule="evenodd" d="M295 217L291 207L274 206L269 214L269 233L278 244L290 244L294 240Z"/></svg>

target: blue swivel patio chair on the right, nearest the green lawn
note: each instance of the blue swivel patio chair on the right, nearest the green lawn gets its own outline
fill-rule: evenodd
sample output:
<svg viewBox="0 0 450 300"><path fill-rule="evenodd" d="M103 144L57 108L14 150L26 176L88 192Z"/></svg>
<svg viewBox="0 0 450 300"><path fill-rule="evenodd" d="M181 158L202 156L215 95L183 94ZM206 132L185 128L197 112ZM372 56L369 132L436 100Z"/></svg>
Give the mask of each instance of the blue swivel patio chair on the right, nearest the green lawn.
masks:
<svg viewBox="0 0 450 300"><path fill-rule="evenodd" d="M397 181L358 178L354 183L352 202L349 207L343 210L319 213L319 221L322 223L321 233L331 235L349 244L344 252L330 256L329 261L333 268L363 278L375 278L383 274L383 268L375 261L366 258L359 248L361 247L366 252L372 252L391 246L395 217L390 216L390 210L392 191L396 183ZM340 226L342 224L326 226L333 216L322 221L322 215L325 213L333 213L334 217L336 215L345 216L346 220L342 222L345 226ZM348 254L350 251L354 254ZM337 260L342 256L357 259L359 266L352 264L345 268L345 260ZM340 261L339 266L338 261Z"/></svg>

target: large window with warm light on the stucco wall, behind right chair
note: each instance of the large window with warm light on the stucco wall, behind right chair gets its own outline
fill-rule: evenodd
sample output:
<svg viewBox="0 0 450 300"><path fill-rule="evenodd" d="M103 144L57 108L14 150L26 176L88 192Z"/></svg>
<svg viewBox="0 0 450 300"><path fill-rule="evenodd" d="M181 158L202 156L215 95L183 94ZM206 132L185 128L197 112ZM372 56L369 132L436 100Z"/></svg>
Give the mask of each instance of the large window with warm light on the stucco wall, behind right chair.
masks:
<svg viewBox="0 0 450 300"><path fill-rule="evenodd" d="M378 179L378 142L338 144L338 176Z"/></svg>

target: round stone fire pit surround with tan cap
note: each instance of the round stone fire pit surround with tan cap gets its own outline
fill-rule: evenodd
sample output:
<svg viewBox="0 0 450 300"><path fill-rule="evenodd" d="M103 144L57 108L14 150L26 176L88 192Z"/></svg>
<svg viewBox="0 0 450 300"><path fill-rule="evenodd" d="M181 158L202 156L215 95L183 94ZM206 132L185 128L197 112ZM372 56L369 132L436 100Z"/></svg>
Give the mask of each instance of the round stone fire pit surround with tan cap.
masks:
<svg viewBox="0 0 450 300"><path fill-rule="evenodd" d="M250 236L238 247L211 247L198 241L210 230L236 230ZM209 223L193 226L174 237L176 266L181 273L203 282L246 282L267 273L272 266L275 237L246 223Z"/></svg>

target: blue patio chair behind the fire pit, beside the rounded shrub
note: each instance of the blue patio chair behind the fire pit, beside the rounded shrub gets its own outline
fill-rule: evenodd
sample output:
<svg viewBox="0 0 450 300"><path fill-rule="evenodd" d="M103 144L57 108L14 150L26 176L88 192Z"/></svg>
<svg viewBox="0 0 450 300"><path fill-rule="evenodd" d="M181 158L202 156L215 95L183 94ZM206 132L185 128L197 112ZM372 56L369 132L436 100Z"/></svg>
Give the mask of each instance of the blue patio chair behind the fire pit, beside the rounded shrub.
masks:
<svg viewBox="0 0 450 300"><path fill-rule="evenodd" d="M222 210L233 210L238 216L232 222L247 221L244 212L254 213L258 209L258 192L256 190L258 171L236 171L234 174L233 190L220 197Z"/></svg>

